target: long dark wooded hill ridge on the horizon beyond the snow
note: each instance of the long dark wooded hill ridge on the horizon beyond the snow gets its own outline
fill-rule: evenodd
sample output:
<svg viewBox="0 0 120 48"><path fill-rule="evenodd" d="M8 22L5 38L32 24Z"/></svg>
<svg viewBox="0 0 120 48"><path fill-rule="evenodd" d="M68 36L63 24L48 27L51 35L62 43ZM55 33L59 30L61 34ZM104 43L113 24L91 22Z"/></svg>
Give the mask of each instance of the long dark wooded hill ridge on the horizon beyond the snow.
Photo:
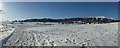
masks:
<svg viewBox="0 0 120 48"><path fill-rule="evenodd" d="M120 20L99 16L99 17L84 17L84 18L65 18L65 19L50 19L50 18L25 19L25 20L15 20L13 22L57 22L62 24L69 24L69 23L80 23L80 24L98 23L99 24L99 23L120 22Z"/></svg>

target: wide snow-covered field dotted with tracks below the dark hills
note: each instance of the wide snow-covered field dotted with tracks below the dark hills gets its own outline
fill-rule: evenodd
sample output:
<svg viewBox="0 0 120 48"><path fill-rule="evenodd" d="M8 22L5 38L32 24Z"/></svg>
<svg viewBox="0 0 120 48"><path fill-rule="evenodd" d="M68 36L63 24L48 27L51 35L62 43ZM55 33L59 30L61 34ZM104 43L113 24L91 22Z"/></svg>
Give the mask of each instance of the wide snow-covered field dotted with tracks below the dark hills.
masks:
<svg viewBox="0 0 120 48"><path fill-rule="evenodd" d="M9 24L15 32L5 46L118 46L118 23Z"/></svg>

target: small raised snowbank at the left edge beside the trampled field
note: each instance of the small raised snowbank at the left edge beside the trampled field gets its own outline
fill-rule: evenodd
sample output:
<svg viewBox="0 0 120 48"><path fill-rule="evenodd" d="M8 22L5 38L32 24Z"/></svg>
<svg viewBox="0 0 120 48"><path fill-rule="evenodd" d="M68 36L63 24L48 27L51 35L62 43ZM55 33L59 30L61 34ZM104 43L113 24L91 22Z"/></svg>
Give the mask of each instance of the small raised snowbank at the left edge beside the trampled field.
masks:
<svg viewBox="0 0 120 48"><path fill-rule="evenodd" d="M7 25L0 23L0 46L5 43L8 37L10 37L14 29L15 28L8 27Z"/></svg>

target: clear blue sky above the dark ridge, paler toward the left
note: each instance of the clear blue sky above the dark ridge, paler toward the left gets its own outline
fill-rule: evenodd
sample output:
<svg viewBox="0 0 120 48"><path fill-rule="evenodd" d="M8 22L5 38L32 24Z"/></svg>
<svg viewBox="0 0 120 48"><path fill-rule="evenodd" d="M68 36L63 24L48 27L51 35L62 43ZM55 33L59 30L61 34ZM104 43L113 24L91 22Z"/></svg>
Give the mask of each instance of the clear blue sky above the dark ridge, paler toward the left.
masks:
<svg viewBox="0 0 120 48"><path fill-rule="evenodd" d="M106 16L118 18L117 2L6 2L5 20Z"/></svg>

